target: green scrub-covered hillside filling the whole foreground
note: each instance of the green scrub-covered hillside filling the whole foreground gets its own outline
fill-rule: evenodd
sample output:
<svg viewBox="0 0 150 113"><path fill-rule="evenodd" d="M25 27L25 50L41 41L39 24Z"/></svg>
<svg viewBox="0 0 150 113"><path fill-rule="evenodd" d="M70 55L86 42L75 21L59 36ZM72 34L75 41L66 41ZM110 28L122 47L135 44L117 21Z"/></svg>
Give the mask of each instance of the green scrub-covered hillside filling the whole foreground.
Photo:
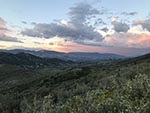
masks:
<svg viewBox="0 0 150 113"><path fill-rule="evenodd" d="M1 64L0 112L149 113L149 61L150 54L63 68Z"/></svg>

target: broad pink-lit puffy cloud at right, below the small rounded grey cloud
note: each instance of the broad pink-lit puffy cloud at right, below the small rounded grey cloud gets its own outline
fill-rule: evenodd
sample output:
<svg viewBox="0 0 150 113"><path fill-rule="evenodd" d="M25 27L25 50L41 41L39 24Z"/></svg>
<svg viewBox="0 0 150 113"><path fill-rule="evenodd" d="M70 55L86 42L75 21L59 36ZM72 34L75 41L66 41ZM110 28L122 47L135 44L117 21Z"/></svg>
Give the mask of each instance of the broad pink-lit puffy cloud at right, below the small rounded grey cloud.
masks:
<svg viewBox="0 0 150 113"><path fill-rule="evenodd" d="M104 45L114 47L149 48L150 34L117 33L106 36Z"/></svg>

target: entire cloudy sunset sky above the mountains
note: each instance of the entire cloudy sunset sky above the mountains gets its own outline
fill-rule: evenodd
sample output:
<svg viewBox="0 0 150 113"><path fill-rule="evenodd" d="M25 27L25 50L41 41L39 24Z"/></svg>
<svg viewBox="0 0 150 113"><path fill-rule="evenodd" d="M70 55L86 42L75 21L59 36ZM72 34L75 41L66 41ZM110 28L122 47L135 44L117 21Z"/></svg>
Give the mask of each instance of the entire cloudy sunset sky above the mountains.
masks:
<svg viewBox="0 0 150 113"><path fill-rule="evenodd" d="M150 52L149 0L0 0L0 49Z"/></svg>

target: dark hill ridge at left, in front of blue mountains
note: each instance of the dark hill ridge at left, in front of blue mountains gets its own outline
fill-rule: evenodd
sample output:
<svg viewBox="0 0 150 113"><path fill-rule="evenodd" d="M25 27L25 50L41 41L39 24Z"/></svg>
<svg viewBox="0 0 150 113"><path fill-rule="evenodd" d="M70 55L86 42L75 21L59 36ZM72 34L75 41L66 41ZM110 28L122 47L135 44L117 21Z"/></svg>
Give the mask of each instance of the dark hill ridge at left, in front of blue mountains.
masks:
<svg viewBox="0 0 150 113"><path fill-rule="evenodd" d="M69 66L75 64L72 61L64 61L57 58L41 58L29 53L0 52L0 64L19 65L25 68L40 68L53 66Z"/></svg>

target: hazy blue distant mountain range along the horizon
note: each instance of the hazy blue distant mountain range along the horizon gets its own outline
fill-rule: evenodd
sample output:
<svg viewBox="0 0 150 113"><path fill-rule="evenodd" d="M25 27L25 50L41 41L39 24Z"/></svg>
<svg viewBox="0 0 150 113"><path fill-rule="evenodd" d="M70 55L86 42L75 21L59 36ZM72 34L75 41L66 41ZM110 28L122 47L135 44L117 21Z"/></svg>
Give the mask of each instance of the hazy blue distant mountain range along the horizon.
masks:
<svg viewBox="0 0 150 113"><path fill-rule="evenodd" d="M118 54L112 54L112 53L95 53L95 52L70 52L70 53L64 53L64 52L57 52L57 51L49 51L49 50L39 50L39 51L33 51L33 50L24 50L24 49L13 49L13 50L0 50L0 52L6 52L6 53L29 53L38 57L42 58L58 58L61 60L71 60L71 61L97 61L101 59L119 59L119 58L125 58L125 56L118 55Z"/></svg>

